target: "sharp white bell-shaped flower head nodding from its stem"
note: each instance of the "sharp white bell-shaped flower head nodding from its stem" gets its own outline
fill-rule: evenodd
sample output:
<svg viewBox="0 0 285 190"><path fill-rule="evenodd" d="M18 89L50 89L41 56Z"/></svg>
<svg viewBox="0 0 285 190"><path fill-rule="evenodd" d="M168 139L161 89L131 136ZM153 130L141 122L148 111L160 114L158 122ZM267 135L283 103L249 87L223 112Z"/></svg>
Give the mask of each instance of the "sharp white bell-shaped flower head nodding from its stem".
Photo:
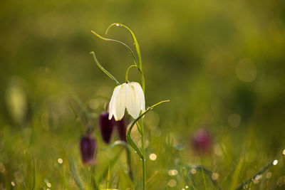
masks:
<svg viewBox="0 0 285 190"><path fill-rule="evenodd" d="M109 104L109 120L121 120L125 108L134 119L138 118L140 111L145 111L145 95L139 83L123 83L115 87Z"/></svg>

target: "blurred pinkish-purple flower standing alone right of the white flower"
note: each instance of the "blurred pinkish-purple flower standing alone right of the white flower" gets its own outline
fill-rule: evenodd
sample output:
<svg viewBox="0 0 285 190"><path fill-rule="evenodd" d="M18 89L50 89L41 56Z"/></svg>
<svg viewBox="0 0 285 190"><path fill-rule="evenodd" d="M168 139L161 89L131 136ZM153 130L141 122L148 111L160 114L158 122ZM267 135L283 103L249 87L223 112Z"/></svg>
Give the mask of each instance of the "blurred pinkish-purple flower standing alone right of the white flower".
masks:
<svg viewBox="0 0 285 190"><path fill-rule="evenodd" d="M205 129L197 130L192 137L192 144L197 152L209 152L212 147L212 137L209 134L209 131Z"/></svg>

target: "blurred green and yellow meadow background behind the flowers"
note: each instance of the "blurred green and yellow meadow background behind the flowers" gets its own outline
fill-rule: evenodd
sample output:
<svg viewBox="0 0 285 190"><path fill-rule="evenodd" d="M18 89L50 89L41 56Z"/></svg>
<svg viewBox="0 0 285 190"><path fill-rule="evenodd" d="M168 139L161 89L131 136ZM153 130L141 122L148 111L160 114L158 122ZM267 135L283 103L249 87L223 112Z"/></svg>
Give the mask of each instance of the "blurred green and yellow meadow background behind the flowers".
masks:
<svg viewBox="0 0 285 190"><path fill-rule="evenodd" d="M79 153L86 126L73 115L70 104L80 110L74 96L89 103L98 142L95 176L120 152L120 148L103 150L107 146L100 137L98 115L108 100L88 102L93 95L110 97L115 87L90 51L121 83L133 63L124 46L90 33L105 36L114 22L130 27L140 43L146 105L171 100L145 117L146 152L157 155L155 161L147 159L147 179L155 174L148 189L190 186L181 174L169 175L171 169L180 171L178 162L202 162L219 174L214 177L219 186L230 189L281 158L285 1L2 0L0 4L0 189L31 189L34 179L36 189L77 189L68 164L71 157L83 184L88 184L91 169L81 164ZM124 28L111 28L106 37L135 51ZM130 80L140 81L135 70ZM192 149L191 140L201 127L212 134L212 150L202 156ZM116 139L115 134L112 142ZM112 187L120 179L120 189L131 187L124 155L110 170ZM134 184L140 189L140 161L136 154L132 158ZM266 172L252 189L284 188L282 164ZM204 187L197 182L197 188Z"/></svg>

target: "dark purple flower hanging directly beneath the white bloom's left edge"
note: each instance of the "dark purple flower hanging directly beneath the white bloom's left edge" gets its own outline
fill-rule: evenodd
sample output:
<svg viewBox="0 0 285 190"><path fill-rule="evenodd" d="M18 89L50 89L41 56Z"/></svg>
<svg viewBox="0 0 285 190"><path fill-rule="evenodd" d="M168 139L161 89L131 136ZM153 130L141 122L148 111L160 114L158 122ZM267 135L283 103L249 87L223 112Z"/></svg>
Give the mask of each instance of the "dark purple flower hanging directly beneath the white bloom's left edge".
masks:
<svg viewBox="0 0 285 190"><path fill-rule="evenodd" d="M110 138L112 137L113 129L115 126L115 119L112 117L111 120L108 119L109 113L102 112L99 117L100 132L103 138L103 141L108 144Z"/></svg>

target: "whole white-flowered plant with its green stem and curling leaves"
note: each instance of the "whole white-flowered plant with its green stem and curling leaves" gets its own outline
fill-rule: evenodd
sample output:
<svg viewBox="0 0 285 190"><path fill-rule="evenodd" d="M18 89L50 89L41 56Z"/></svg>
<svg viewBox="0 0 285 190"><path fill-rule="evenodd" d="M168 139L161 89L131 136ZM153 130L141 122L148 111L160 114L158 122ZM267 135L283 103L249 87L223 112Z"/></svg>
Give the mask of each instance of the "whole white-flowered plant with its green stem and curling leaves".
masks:
<svg viewBox="0 0 285 190"><path fill-rule="evenodd" d="M95 36L98 36L99 38L105 41L113 41L115 43L120 43L126 48L128 48L128 51L133 57L134 65L130 65L130 67L126 71L125 83L121 85L118 82L118 80L108 72L108 70L105 70L105 68L103 68L103 66L100 65L97 58L95 57L95 53L91 52L91 54L93 55L95 63L98 65L98 67L101 70L103 70L103 72L106 75L108 75L109 78L111 78L112 80L115 80L115 83L117 83L118 85L115 87L113 91L113 95L110 99L110 103L108 107L108 111L109 111L108 119L112 120L112 118L114 117L116 121L121 120L123 116L125 115L125 110L127 110L128 114L132 116L134 119L128 129L128 132L126 134L126 139L128 141L128 144L130 144L130 146L133 147L133 149L135 149L135 152L138 154L138 156L140 157L142 161L142 189L144 190L145 189L145 135L144 135L144 127L143 127L142 118L143 118L143 115L145 115L148 111L152 110L153 107L160 105L162 102L169 102L170 100L164 100L164 101L158 102L157 104L152 105L145 110L145 78L144 78L143 71L142 71L142 58L141 58L140 46L138 44L137 38L135 38L135 34L133 33L133 31L130 30L130 28L128 28L127 26L121 23L111 24L108 27L106 33L108 33L108 30L112 26L122 26L123 28L126 28L130 32L130 35L132 36L133 42L135 44L135 50L136 50L138 59L136 58L132 49L125 43L121 41L113 40L110 38L104 38L103 36L100 36L98 33L95 33L94 31L92 31L92 33L94 33ZM137 68L137 70L140 73L142 85L140 85L140 83L128 81L128 73L130 72L130 68ZM139 149L138 145L134 142L133 138L130 135L130 132L132 131L134 126L138 127L138 131L140 132L141 144L142 144L141 149Z"/></svg>

